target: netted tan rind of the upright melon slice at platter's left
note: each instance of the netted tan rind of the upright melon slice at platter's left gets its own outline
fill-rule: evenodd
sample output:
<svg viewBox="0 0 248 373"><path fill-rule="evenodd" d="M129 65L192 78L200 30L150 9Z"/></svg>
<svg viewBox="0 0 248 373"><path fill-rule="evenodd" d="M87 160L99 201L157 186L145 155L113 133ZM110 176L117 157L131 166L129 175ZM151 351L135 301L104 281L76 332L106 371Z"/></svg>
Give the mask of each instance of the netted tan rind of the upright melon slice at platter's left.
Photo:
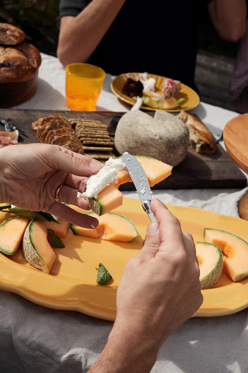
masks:
<svg viewBox="0 0 248 373"><path fill-rule="evenodd" d="M32 235L32 225L35 224L35 220L32 220L29 225L26 228L26 231L23 236L23 242L22 242L22 252L23 255L28 261L28 263L37 268L42 270L43 272L49 273L48 267L43 260L43 258L37 253L35 250L35 247L32 243L32 238L30 235Z"/></svg>

